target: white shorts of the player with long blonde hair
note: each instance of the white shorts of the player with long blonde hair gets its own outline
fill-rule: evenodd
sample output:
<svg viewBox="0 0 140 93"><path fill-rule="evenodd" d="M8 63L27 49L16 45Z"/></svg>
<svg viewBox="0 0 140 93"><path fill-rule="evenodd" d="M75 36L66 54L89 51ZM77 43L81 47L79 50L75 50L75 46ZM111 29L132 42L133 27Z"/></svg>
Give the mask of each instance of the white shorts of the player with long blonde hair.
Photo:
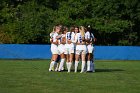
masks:
<svg viewBox="0 0 140 93"><path fill-rule="evenodd" d="M87 53L87 46L86 45L77 45L76 46L76 54L85 54Z"/></svg>

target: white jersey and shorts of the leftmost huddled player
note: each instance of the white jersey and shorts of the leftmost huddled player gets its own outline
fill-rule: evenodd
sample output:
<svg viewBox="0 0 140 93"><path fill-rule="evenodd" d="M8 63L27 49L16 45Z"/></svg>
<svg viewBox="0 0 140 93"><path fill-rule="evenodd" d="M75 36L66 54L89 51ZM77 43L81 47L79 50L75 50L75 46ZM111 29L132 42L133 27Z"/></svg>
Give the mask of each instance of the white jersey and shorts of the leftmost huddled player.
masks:
<svg viewBox="0 0 140 93"><path fill-rule="evenodd" d="M57 41L57 39L56 39L56 37L58 36L58 33L53 33L53 36L52 36L52 40L53 40L53 42L56 42ZM59 52L58 52L58 46L56 45L56 44L51 44L51 52L52 52L52 54L58 54Z"/></svg>

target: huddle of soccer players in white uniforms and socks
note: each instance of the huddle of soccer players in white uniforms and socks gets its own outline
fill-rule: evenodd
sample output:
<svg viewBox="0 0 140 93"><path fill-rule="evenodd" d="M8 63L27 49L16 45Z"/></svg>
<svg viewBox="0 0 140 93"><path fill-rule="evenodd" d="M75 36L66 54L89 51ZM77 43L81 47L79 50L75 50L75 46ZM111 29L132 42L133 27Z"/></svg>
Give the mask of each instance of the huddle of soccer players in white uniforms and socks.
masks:
<svg viewBox="0 0 140 93"><path fill-rule="evenodd" d="M79 62L82 62L80 73L95 72L93 55L95 40L90 26L73 26L69 29L62 25L54 26L50 33L52 59L49 71L63 71L66 62L68 73L72 67L76 73Z"/></svg>

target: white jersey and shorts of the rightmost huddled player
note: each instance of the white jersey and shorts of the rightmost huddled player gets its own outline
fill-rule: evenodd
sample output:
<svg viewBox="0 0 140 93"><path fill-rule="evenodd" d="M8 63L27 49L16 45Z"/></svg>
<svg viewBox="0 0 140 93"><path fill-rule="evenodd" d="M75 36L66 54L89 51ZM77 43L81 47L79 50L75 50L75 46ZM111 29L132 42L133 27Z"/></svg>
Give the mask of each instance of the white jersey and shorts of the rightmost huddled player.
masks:
<svg viewBox="0 0 140 93"><path fill-rule="evenodd" d="M94 39L94 35L91 33L89 33L88 31L85 33L85 39L89 39L90 41L93 41ZM92 44L89 44L87 45L87 50L88 50L88 53L93 53L94 51L94 47Z"/></svg>

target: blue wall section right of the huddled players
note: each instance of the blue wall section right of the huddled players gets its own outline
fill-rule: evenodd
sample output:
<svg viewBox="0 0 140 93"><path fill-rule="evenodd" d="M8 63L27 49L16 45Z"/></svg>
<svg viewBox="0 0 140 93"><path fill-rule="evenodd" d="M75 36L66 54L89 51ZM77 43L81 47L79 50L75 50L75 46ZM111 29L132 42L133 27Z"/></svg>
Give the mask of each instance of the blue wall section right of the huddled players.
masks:
<svg viewBox="0 0 140 93"><path fill-rule="evenodd" d="M95 58L103 60L140 60L140 46L95 46Z"/></svg>

